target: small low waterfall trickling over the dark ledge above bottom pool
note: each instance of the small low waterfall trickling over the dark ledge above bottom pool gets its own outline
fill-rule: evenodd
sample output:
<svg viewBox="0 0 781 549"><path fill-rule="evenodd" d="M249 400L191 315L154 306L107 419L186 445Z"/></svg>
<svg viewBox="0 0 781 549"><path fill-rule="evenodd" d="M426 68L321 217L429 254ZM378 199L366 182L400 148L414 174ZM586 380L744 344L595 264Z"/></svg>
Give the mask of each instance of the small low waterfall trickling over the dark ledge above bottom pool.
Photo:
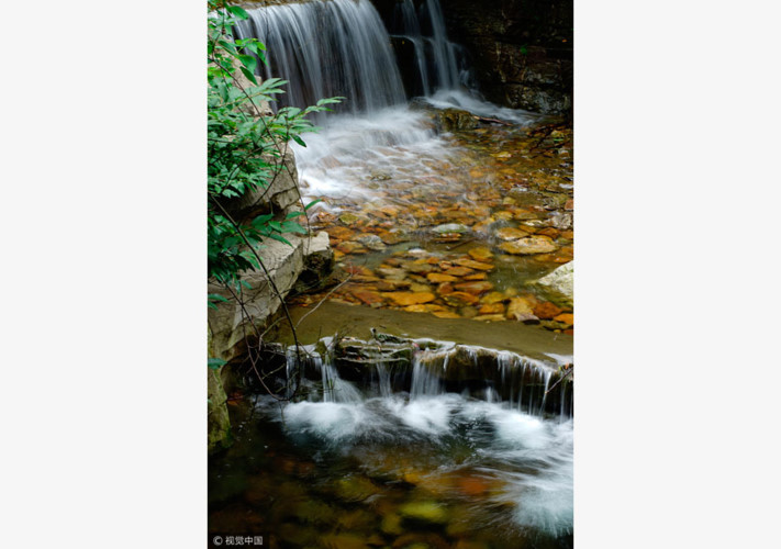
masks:
<svg viewBox="0 0 781 549"><path fill-rule="evenodd" d="M559 362L533 360L510 351L429 340L383 344L324 338L301 354L310 401L357 403L406 395L416 401L460 394L505 405L534 416L573 415L572 384L561 380ZM323 349L326 349L323 351ZM294 347L284 350L287 372L297 370ZM554 386L554 383L557 383ZM288 380L292 384L292 380ZM551 389L553 388L553 389Z"/></svg>

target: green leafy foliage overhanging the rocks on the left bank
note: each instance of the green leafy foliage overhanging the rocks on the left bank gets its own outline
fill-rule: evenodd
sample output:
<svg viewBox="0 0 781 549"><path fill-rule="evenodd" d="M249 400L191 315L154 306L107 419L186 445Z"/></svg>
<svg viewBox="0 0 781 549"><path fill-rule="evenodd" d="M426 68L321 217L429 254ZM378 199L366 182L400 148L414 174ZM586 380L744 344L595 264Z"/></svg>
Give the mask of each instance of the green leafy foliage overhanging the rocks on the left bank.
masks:
<svg viewBox="0 0 781 549"><path fill-rule="evenodd" d="M267 189L287 169L282 157L288 142L305 146L301 134L317 130L306 116L330 110L326 105L341 98L322 99L305 109L287 107L277 114L264 113L261 105L283 93L287 82L279 78L258 82L255 71L258 63L267 63L266 46L256 38L235 40L232 32L238 21L247 19L244 9L214 0L209 1L209 277L237 290L243 271L261 268L257 250L266 238L290 244L283 234L306 234L298 217L312 204L283 220L265 214L247 221L234 220L225 203ZM210 306L216 301L224 298L209 295Z"/></svg>

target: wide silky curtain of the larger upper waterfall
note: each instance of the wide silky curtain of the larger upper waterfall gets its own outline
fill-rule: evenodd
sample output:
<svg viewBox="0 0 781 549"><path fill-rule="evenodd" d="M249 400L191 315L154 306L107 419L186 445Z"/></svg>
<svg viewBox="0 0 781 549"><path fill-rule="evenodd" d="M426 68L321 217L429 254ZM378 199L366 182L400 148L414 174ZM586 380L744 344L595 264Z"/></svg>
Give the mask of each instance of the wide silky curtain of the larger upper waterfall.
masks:
<svg viewBox="0 0 781 549"><path fill-rule="evenodd" d="M358 113L405 101L390 37L369 0L268 5L248 14L236 34L266 44L261 76L290 82L280 103L303 108L338 96L346 99L336 110Z"/></svg>

